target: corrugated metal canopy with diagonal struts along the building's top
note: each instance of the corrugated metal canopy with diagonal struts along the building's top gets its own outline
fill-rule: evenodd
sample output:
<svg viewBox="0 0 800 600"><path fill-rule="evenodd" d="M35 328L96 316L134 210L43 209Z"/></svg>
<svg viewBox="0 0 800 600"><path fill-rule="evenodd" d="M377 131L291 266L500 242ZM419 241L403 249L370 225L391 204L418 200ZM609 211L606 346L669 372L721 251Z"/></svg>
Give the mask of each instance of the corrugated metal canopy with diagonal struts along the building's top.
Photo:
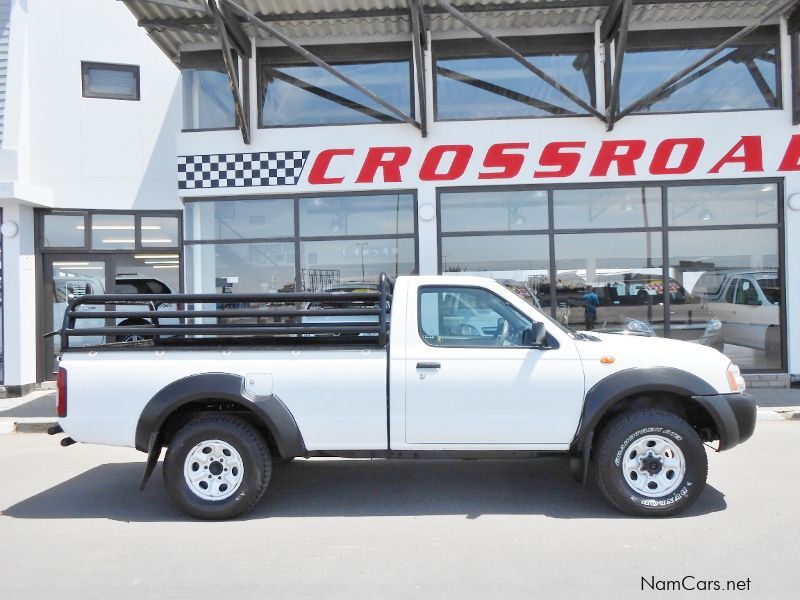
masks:
<svg viewBox="0 0 800 600"><path fill-rule="evenodd" d="M793 63L800 79L800 0L521 0L509 2L501 0L122 0L136 15L139 25L144 27L156 44L176 62L181 46L191 44L217 43L225 57L225 67L230 80L236 104L236 116L242 138L250 143L249 115L246 103L239 90L238 69L233 55L246 62L252 54L252 38L270 38L279 41L310 63L316 64L340 81L377 104L381 110L344 98L333 92L299 82L306 91L347 105L354 110L369 114L380 121L399 121L417 128L423 136L427 135L428 107L425 77L425 50L428 44L428 31L433 34L444 31L467 31L477 34L494 46L500 53L514 59L531 76L537 77L560 92L583 111L604 123L608 130L625 116L658 101L665 94L674 93L689 85L697 78L718 68L729 59L729 55L714 62L725 49L750 34L756 28L787 16L789 31L792 34ZM335 8L331 8L335 6ZM502 29L504 33L514 30L514 26L524 24L530 31L537 27L574 27L578 24L593 28L596 20L602 19L601 41L606 44L607 56L613 60L611 81L606 89L606 112L603 114L567 86L536 67L523 54L502 41L492 30ZM632 102L620 106L620 82L625 59L628 32L633 24L663 22L664 29L673 22L694 19L718 19L722 22L749 23L715 48L709 50L697 61L682 69L667 81ZM487 25L489 25L487 27ZM519 25L517 26L519 28ZM292 35L288 35L291 31ZM354 81L335 66L315 55L297 39L319 37L319 32L330 37L349 37L358 34L380 37L384 33L410 38L416 76L415 89L418 118L406 114L390 102L371 92ZM552 29L550 30L552 31ZM294 39L293 39L294 38ZM748 68L753 80L765 99L773 95L754 63L755 57L738 56ZM458 80L501 94L517 102L536 107L549 114L576 114L564 107L552 105L543 100L508 90L489 82L480 81L452 69L439 68L437 73L443 77ZM798 91L795 98L794 121L800 123L800 100Z"/></svg>

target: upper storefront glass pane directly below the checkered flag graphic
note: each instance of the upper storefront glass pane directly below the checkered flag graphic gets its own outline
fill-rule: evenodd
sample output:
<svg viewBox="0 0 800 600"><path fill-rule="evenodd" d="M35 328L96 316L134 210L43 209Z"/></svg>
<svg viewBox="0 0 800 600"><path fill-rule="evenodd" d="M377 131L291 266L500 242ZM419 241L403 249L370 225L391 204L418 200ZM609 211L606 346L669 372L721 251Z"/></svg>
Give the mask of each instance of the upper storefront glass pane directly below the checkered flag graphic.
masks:
<svg viewBox="0 0 800 600"><path fill-rule="evenodd" d="M249 240L294 236L291 199L186 203L187 240Z"/></svg>

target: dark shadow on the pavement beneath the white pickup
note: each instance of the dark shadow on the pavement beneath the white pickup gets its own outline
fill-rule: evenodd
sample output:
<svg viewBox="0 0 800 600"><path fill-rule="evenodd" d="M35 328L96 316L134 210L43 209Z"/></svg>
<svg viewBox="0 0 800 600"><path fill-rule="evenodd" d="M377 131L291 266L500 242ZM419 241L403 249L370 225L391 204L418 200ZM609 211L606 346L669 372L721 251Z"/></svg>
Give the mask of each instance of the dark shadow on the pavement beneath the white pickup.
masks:
<svg viewBox="0 0 800 600"><path fill-rule="evenodd" d="M2 511L17 519L108 518L126 522L190 521L169 500L157 469L138 492L143 463L111 463ZM680 517L726 508L706 486ZM597 486L575 483L563 458L536 460L296 460L273 471L270 488L244 519L545 515L558 519L628 518Z"/></svg>

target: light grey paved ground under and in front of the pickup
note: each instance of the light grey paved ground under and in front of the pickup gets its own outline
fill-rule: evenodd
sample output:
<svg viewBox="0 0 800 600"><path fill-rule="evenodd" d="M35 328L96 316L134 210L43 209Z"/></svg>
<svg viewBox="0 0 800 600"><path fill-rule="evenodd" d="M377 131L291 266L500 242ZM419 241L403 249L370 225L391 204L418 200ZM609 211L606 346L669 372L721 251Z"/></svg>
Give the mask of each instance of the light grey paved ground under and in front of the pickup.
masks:
<svg viewBox="0 0 800 600"><path fill-rule="evenodd" d="M0 597L697 598L642 577L750 579L711 597L796 597L800 422L759 422L710 456L684 517L628 518L561 459L300 460L249 518L206 523L169 503L143 456L0 435ZM743 583L744 585L744 583Z"/></svg>

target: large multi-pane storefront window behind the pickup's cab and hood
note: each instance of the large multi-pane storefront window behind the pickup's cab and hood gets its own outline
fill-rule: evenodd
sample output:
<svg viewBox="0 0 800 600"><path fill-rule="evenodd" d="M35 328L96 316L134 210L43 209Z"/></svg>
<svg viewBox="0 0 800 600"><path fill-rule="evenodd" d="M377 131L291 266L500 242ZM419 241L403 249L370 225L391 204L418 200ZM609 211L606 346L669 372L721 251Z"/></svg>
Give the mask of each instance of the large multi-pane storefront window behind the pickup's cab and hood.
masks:
<svg viewBox="0 0 800 600"><path fill-rule="evenodd" d="M533 220L552 227L500 233L503 207L548 193L553 214L542 201ZM494 278L575 329L668 335L778 370L780 202L775 181L443 190L440 269Z"/></svg>

